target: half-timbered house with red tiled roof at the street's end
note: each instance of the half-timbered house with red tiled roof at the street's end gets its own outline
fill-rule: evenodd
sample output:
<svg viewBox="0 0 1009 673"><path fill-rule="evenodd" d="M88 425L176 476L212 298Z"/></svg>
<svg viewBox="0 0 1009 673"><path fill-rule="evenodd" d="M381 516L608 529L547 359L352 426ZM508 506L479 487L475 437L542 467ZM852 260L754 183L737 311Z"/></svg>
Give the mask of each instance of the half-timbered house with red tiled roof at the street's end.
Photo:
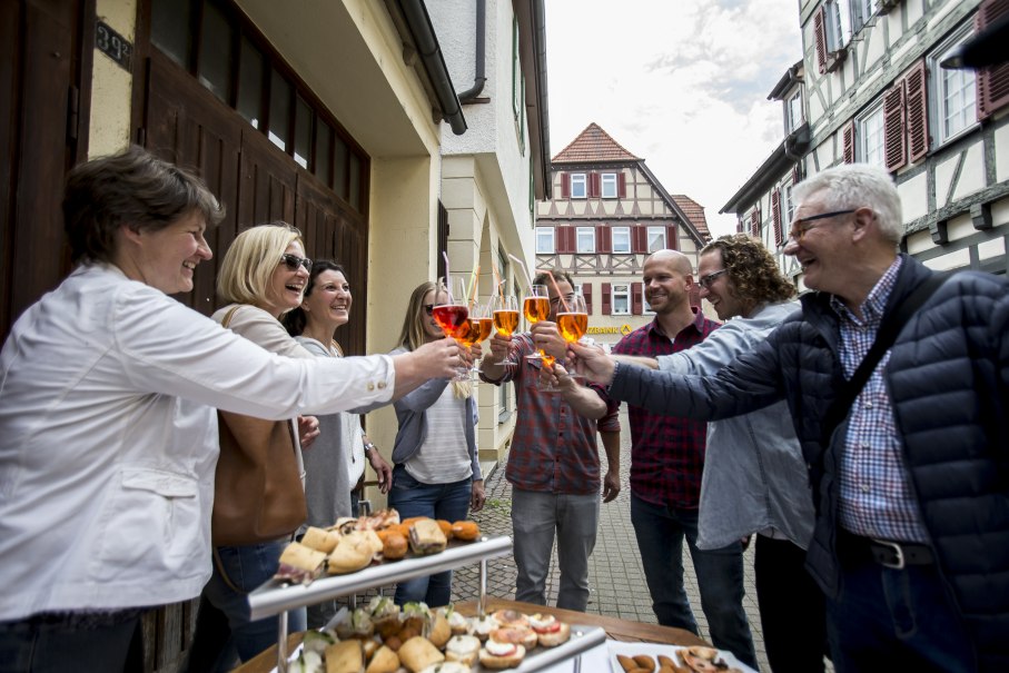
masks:
<svg viewBox="0 0 1009 673"><path fill-rule="evenodd" d="M554 196L536 205L536 268L571 274L585 296L588 336L609 347L652 319L641 281L649 254L679 250L696 269L711 238L704 208L671 195L596 123L552 168ZM696 290L691 301L700 306Z"/></svg>

